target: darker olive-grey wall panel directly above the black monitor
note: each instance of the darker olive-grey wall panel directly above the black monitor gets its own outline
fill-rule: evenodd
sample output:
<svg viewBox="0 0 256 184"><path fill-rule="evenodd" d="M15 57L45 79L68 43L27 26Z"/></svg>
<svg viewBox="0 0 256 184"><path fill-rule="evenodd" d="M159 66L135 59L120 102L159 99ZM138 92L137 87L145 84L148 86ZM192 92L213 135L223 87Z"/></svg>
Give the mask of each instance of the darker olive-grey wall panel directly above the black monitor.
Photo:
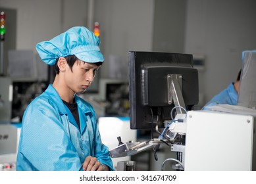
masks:
<svg viewBox="0 0 256 184"><path fill-rule="evenodd" d="M187 1L155 1L153 22L154 52L184 52Z"/></svg>

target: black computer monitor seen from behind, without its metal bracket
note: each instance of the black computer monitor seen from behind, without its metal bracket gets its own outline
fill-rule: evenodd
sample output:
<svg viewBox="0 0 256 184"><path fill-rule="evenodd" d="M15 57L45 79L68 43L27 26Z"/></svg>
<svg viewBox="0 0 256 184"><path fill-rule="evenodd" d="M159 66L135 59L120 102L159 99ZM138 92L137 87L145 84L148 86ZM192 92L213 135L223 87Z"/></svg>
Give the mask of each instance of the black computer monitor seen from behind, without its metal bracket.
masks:
<svg viewBox="0 0 256 184"><path fill-rule="evenodd" d="M128 56L131 129L164 127L164 122L171 120L174 103L168 99L168 76L181 76L179 84L187 110L198 103L193 55L130 51Z"/></svg>

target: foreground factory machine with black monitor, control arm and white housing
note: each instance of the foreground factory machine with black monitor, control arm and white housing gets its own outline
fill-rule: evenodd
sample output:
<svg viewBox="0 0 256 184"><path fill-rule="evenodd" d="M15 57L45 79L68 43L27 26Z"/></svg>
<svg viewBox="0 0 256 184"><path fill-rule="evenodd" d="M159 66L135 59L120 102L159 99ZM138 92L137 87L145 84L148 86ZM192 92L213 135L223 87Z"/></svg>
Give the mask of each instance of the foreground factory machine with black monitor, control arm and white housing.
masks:
<svg viewBox="0 0 256 184"><path fill-rule="evenodd" d="M209 106L209 110L188 110L188 105L197 101L193 95L198 92L197 72L184 62L176 63L190 60L189 57L170 53L130 53L130 127L154 127L159 137L127 143L119 138L118 146L110 150L111 157L134 155L165 144L171 152L176 152L176 157L167 158L161 170L165 170L166 162L171 162L173 170L256 170L256 99L253 99L256 86L251 85L251 79L255 79L251 74L255 75L256 53L245 53L238 105L217 104ZM161 62L163 58L175 64L168 67ZM165 102L172 108L166 107ZM124 166L121 169L126 170Z"/></svg>

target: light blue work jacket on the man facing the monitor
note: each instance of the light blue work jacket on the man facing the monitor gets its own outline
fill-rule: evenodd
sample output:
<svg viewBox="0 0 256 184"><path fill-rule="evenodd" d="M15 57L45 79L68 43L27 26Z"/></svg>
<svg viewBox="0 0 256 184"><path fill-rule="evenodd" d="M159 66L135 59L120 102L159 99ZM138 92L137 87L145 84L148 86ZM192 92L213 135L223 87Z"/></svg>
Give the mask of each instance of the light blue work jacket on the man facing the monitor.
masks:
<svg viewBox="0 0 256 184"><path fill-rule="evenodd" d="M28 105L22 119L16 170L82 170L87 156L113 169L109 149L101 143L91 104L74 97L80 129L53 85Z"/></svg>

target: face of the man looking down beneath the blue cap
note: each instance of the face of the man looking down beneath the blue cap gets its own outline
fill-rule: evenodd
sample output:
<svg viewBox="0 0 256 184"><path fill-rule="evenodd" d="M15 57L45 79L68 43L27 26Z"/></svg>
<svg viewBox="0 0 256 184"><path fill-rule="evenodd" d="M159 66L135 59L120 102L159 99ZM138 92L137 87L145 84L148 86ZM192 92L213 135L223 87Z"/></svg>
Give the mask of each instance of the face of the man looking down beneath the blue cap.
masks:
<svg viewBox="0 0 256 184"><path fill-rule="evenodd" d="M67 86L74 93L83 93L90 87L98 68L99 66L96 64L77 60L72 67L72 71L69 66L68 70L66 70L65 80Z"/></svg>

